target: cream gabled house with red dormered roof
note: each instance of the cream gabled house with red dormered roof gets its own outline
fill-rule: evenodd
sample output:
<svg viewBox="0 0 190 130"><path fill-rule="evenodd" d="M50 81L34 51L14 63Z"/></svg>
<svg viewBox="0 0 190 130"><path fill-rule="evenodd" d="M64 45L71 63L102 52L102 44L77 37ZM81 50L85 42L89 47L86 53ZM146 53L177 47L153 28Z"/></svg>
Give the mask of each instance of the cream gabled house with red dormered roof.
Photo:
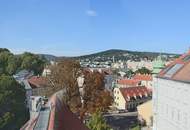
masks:
<svg viewBox="0 0 190 130"><path fill-rule="evenodd" d="M128 87L114 89L114 104L117 109L136 110L136 107L152 97L146 87Z"/></svg>

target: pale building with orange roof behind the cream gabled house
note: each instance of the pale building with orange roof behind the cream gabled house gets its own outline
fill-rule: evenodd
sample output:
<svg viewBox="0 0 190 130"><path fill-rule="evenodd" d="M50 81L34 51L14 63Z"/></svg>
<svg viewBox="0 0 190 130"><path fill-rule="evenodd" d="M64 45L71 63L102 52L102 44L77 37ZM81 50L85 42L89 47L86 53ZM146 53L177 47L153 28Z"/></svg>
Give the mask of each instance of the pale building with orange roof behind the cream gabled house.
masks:
<svg viewBox="0 0 190 130"><path fill-rule="evenodd" d="M136 74L133 77L134 80L140 81L141 86L146 86L148 89L152 89L153 86L153 78L150 74Z"/></svg>

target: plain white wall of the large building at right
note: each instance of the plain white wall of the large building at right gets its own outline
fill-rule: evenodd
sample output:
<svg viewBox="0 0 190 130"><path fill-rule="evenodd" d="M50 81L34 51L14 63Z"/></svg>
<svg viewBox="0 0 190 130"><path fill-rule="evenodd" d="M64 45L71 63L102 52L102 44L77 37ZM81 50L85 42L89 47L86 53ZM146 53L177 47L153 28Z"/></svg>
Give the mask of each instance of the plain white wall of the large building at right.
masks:
<svg viewBox="0 0 190 130"><path fill-rule="evenodd" d="M153 130L190 130L190 84L154 78Z"/></svg>

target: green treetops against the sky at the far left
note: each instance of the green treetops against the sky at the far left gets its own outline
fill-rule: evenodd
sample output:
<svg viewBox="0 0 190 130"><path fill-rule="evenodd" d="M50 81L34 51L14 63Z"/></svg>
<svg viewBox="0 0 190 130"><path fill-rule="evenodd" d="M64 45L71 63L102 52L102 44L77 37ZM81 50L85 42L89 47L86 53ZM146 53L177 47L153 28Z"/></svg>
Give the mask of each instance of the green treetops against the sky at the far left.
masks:
<svg viewBox="0 0 190 130"><path fill-rule="evenodd" d="M0 75L13 75L22 69L41 74L45 64L45 58L38 55L28 52L22 55L13 55L9 50L0 48Z"/></svg>

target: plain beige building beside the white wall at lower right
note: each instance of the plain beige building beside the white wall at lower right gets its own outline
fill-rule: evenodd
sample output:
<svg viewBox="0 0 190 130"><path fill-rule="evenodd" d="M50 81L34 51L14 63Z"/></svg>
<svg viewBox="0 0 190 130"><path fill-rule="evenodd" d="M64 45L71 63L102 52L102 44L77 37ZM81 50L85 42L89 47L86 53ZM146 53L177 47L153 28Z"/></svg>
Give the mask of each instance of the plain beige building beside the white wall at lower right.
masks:
<svg viewBox="0 0 190 130"><path fill-rule="evenodd" d="M147 127L152 127L153 125L153 111L152 111L152 100L147 101L137 107L138 119L141 124Z"/></svg>

